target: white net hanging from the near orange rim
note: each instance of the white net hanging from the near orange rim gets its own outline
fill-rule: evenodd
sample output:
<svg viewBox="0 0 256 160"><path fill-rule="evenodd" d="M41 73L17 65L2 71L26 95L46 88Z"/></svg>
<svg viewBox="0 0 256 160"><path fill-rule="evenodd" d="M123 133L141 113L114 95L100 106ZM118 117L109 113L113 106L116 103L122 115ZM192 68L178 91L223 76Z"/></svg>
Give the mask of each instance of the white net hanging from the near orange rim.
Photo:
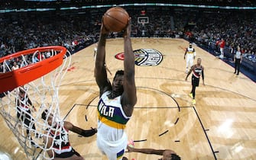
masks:
<svg viewBox="0 0 256 160"><path fill-rule="evenodd" d="M6 59L2 62L2 66L4 72L10 72L11 61L15 61L17 58L20 59L19 66L24 67L44 61L44 59L59 53L56 50L47 52L37 50L29 55ZM70 67L70 62L71 56L67 52L63 57L63 64L57 69L24 86L2 93L0 114L24 148L28 159L51 159L47 152L52 151L54 141L50 141L50 139L55 139L58 133L67 135L63 130L63 123L59 123L61 120L58 91L60 83ZM41 114L46 109L53 114L53 122L57 122L59 127L53 127L56 123L52 123L50 126L47 120L42 120ZM47 119L49 115L47 114ZM50 134L50 131L54 131L53 134ZM67 140L60 139L59 142L60 144L65 143ZM45 145L49 141L50 145Z"/></svg>

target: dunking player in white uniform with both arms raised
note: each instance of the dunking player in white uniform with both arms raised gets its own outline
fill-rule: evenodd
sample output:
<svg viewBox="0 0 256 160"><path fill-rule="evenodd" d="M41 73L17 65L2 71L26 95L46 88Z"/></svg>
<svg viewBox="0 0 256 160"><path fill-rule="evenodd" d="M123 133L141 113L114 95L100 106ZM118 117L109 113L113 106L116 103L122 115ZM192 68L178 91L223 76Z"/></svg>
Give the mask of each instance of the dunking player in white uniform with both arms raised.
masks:
<svg viewBox="0 0 256 160"><path fill-rule="evenodd" d="M123 157L128 138L125 126L137 102L134 82L134 53L131 47L131 18L125 28L124 71L115 73L112 85L105 68L105 43L109 31L102 23L96 56L95 75L99 86L97 146L109 160ZM127 158L126 158L127 159Z"/></svg>

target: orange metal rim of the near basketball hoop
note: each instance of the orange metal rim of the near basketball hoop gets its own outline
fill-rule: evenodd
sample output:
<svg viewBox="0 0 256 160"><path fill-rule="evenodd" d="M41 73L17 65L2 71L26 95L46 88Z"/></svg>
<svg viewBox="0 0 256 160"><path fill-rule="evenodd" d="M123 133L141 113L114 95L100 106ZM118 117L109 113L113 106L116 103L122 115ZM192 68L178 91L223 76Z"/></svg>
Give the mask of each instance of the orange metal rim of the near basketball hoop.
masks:
<svg viewBox="0 0 256 160"><path fill-rule="evenodd" d="M2 57L0 62L4 62L8 59L14 59L21 55L24 56L35 53L36 51L47 52L50 50L54 50L60 53L55 56L51 56L50 58L43 59L40 62L24 66L20 69L16 69L11 72L0 73L0 93L11 91L21 85L28 84L29 82L32 82L35 79L53 71L54 69L57 69L57 67L60 66L63 62L63 56L66 54L66 48L64 46L44 46L30 50L23 50L21 52Z"/></svg>

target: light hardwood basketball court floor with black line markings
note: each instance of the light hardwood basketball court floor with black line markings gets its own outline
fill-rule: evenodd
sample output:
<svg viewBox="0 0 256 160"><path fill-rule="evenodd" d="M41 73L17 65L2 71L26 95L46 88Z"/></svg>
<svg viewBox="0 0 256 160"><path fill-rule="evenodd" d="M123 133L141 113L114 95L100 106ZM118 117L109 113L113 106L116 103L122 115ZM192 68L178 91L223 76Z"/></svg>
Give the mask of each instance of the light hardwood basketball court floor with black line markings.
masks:
<svg viewBox="0 0 256 160"><path fill-rule="evenodd" d="M205 67L196 88L196 106L191 104L191 75L186 82L183 59L188 42L181 39L132 39L133 50L155 49L164 59L158 66L135 66L138 103L126 132L135 147L173 149L184 160L256 159L256 85L245 75L197 46L196 57ZM73 124L89 129L96 127L99 88L93 76L94 45L72 56L72 66L60 87L61 116ZM108 40L106 64L115 74L122 69L123 40ZM195 61L196 62L196 61ZM109 75L112 80L113 75ZM1 122L2 122L1 118ZM0 149L13 159L26 159L15 137L1 123ZM106 159L96 146L96 136L79 137L70 133L74 149L85 159ZM17 149L18 148L18 149ZM16 150L15 150L16 149ZM157 159L158 155L125 153L131 159Z"/></svg>

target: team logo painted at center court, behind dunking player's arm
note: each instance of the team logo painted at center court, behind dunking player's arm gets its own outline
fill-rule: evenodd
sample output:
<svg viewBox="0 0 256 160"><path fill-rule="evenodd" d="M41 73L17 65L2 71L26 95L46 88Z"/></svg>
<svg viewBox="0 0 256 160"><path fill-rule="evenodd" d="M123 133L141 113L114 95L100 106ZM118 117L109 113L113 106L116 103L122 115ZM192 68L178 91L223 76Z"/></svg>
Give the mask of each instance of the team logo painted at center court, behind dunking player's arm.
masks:
<svg viewBox="0 0 256 160"><path fill-rule="evenodd" d="M134 50L134 61L137 66L157 66L162 62L163 56L158 50L154 49L139 49ZM124 60L125 54L118 53L116 59Z"/></svg>

